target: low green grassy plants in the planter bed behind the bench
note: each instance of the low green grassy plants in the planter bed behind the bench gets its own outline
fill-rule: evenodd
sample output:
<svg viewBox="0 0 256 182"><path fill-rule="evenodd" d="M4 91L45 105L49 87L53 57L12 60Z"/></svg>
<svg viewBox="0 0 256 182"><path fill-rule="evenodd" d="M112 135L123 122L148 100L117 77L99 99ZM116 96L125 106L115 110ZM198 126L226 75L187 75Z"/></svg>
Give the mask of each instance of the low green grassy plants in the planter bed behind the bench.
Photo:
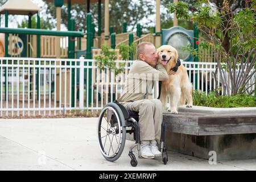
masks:
<svg viewBox="0 0 256 182"><path fill-rule="evenodd" d="M195 90L193 93L193 105L207 107L256 107L256 96L241 95L218 96L212 91L205 95L205 92Z"/></svg>

